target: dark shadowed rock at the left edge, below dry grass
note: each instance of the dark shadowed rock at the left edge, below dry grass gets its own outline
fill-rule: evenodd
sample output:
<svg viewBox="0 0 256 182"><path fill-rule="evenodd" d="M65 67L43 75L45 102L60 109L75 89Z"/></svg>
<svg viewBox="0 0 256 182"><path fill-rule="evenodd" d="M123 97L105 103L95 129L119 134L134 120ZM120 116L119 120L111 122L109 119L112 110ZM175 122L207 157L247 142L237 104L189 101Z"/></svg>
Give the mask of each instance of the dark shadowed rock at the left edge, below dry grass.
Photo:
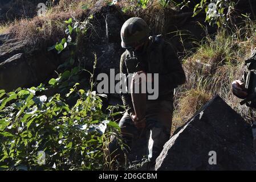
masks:
<svg viewBox="0 0 256 182"><path fill-rule="evenodd" d="M0 35L0 89L34 86L52 76L60 64L54 53L28 50L25 43L7 37Z"/></svg>

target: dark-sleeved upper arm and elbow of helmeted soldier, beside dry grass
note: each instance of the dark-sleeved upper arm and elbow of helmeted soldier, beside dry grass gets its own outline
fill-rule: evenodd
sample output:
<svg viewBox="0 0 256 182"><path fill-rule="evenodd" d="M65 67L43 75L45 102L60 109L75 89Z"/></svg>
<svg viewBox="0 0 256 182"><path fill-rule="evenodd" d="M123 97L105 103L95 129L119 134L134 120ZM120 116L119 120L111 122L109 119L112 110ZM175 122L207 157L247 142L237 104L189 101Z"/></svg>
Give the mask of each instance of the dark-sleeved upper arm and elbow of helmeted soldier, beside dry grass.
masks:
<svg viewBox="0 0 256 182"><path fill-rule="evenodd" d="M173 89L186 81L185 72L178 60L177 53L169 43L165 43L164 50L164 67L168 69L167 74L159 74L159 88Z"/></svg>

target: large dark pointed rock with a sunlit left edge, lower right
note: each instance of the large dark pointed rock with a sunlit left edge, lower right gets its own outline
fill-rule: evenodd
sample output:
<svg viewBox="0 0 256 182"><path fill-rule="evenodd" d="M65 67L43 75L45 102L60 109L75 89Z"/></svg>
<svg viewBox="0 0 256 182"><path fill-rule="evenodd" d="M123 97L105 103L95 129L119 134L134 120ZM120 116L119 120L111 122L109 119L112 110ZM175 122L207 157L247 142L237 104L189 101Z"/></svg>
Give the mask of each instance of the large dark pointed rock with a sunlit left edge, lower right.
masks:
<svg viewBox="0 0 256 182"><path fill-rule="evenodd" d="M256 170L251 127L216 96L165 143L155 169Z"/></svg>

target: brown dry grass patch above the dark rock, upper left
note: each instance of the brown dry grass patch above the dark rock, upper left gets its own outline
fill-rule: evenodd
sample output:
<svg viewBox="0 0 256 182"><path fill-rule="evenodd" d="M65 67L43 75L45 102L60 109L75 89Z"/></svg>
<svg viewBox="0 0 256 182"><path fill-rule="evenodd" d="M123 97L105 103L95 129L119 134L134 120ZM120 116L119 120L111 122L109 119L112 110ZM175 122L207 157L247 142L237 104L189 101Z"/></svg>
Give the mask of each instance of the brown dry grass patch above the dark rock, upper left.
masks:
<svg viewBox="0 0 256 182"><path fill-rule="evenodd" d="M94 0L61 0L58 6L48 9L45 16L35 16L32 19L15 22L10 27L10 33L14 38L23 40L34 48L51 46L64 37L66 28L64 20L85 18L87 9L90 9L94 2Z"/></svg>

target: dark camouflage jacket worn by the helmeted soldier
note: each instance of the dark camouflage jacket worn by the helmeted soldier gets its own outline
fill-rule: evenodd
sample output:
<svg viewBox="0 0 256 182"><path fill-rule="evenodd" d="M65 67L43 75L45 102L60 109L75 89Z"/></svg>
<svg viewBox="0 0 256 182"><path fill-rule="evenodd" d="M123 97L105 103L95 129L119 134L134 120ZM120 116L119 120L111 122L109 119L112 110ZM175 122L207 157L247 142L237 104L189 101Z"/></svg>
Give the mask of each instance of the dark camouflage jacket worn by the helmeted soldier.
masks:
<svg viewBox="0 0 256 182"><path fill-rule="evenodd" d="M139 68L131 61L132 59L139 61ZM128 73L137 71L159 73L159 98L157 98L157 100L173 101L174 88L184 84L186 80L184 70L174 48L160 36L150 37L148 43L140 53L126 50L121 55L120 74L128 77ZM121 84L121 87L122 86L127 85ZM120 95L125 110L127 110L129 114L133 113L131 94L120 92Z"/></svg>

